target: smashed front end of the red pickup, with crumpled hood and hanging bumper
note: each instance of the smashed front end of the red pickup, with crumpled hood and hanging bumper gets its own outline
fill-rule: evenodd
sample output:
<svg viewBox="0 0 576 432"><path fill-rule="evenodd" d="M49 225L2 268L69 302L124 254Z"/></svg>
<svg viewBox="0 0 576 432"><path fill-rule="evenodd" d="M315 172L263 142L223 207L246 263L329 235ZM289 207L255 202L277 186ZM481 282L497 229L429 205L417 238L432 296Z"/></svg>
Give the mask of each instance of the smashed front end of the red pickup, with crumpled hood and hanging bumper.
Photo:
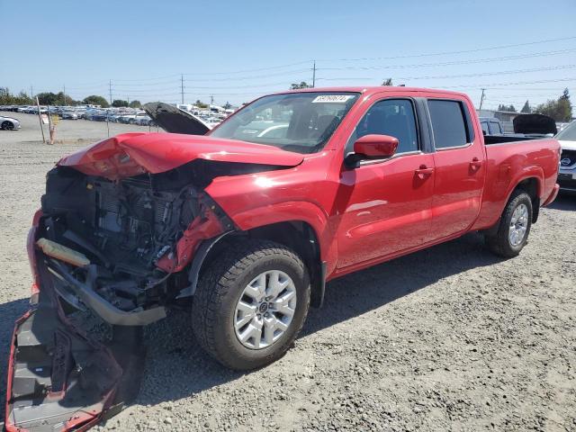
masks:
<svg viewBox="0 0 576 432"><path fill-rule="evenodd" d="M273 165L266 151L263 163L242 163L240 151L218 160L203 137L202 155L181 146L161 157L142 138L105 140L47 175L28 239L32 307L15 324L8 365L8 431L85 430L121 410L139 390L141 326L193 294L204 240L235 230L204 188L220 175L297 162L286 153ZM112 337L85 331L83 311Z"/></svg>

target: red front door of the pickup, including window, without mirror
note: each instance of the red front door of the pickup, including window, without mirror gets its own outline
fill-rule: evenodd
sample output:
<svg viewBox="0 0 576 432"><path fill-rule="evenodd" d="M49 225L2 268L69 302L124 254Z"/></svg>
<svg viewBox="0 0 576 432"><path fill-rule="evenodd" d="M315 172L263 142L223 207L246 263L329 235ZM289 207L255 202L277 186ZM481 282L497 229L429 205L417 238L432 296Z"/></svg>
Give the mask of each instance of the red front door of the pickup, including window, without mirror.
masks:
<svg viewBox="0 0 576 432"><path fill-rule="evenodd" d="M338 268L370 264L425 242L431 228L434 157L420 151L410 99L372 105L348 141L367 134L391 135L400 144L394 157L343 168L338 191Z"/></svg>

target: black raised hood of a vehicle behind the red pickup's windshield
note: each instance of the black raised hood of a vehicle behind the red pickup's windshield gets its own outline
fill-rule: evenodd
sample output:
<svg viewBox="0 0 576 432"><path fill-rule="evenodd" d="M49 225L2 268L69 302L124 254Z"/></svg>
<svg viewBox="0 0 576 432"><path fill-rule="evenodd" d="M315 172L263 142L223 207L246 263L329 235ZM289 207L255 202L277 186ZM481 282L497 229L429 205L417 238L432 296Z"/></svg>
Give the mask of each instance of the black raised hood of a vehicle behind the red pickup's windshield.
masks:
<svg viewBox="0 0 576 432"><path fill-rule="evenodd" d="M166 132L204 135L211 130L208 123L202 119L168 103L150 102L142 108Z"/></svg>

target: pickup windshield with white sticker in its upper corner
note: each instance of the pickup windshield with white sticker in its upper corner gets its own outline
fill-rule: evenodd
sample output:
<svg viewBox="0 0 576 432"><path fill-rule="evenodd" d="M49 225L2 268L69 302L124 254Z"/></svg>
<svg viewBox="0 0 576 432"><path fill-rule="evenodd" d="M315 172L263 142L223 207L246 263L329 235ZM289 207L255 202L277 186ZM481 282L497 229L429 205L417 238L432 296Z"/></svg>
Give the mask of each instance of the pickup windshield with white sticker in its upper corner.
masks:
<svg viewBox="0 0 576 432"><path fill-rule="evenodd" d="M232 114L210 135L266 144L298 153L324 147L359 94L274 94Z"/></svg>

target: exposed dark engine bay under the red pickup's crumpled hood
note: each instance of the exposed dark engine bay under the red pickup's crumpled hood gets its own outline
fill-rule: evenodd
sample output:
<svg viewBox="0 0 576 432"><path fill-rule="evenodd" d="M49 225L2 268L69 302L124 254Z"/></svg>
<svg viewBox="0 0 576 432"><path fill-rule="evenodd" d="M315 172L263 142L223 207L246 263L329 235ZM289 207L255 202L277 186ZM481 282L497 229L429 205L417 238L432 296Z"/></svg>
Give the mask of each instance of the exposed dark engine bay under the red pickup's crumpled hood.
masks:
<svg viewBox="0 0 576 432"><path fill-rule="evenodd" d="M193 186L164 189L150 175L116 182L58 167L42 197L43 232L90 261L82 267L49 258L58 293L75 304L72 278L87 284L121 311L148 309L175 297L185 280L157 268L190 222L200 214Z"/></svg>

